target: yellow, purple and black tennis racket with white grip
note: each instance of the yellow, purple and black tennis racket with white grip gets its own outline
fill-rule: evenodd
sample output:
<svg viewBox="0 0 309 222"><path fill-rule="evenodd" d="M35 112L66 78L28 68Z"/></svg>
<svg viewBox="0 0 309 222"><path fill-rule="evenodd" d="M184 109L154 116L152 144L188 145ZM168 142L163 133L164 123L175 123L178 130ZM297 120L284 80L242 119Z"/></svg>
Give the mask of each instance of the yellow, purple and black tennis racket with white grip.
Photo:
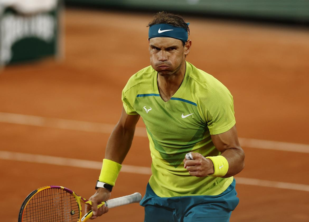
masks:
<svg viewBox="0 0 309 222"><path fill-rule="evenodd" d="M125 204L138 203L142 199L140 193L110 199L98 204L108 208ZM41 187L29 194L24 200L18 222L84 222L92 216L92 210L82 217L81 203L91 205L87 200L73 191L59 186Z"/></svg>

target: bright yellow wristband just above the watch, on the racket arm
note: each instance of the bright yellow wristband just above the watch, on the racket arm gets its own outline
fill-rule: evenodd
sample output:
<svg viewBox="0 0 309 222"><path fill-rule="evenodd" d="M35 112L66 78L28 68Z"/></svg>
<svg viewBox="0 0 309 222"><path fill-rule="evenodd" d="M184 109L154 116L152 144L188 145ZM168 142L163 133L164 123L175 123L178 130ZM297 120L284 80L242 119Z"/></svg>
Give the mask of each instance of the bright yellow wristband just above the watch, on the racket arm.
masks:
<svg viewBox="0 0 309 222"><path fill-rule="evenodd" d="M121 164L109 159L103 159L99 181L115 186L120 169Z"/></svg>

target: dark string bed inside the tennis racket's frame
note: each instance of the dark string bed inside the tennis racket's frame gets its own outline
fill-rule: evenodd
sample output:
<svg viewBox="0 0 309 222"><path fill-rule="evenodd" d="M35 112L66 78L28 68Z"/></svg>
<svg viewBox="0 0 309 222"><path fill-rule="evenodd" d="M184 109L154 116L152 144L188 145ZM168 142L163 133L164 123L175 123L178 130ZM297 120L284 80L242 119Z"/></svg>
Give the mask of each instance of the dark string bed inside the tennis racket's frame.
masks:
<svg viewBox="0 0 309 222"><path fill-rule="evenodd" d="M45 189L29 200L23 212L23 222L77 222L79 207L74 196L57 189Z"/></svg>

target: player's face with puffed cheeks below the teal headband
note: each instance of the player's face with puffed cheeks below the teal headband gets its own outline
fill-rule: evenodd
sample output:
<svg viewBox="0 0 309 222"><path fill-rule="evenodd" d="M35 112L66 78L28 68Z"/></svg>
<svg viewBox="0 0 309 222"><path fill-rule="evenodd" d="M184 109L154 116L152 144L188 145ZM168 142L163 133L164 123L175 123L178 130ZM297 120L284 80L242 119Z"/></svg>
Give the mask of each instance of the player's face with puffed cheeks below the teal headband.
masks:
<svg viewBox="0 0 309 222"><path fill-rule="evenodd" d="M188 54L188 48L179 39L156 37L149 39L150 64L160 75L177 72Z"/></svg>

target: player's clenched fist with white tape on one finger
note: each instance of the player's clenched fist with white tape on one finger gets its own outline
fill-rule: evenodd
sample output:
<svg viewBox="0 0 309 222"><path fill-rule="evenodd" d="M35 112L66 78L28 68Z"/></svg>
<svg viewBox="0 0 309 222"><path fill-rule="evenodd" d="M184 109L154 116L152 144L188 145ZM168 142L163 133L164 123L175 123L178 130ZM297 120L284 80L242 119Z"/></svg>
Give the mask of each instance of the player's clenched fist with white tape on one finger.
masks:
<svg viewBox="0 0 309 222"><path fill-rule="evenodd" d="M191 153L193 159L184 158L184 168L196 177L205 177L214 173L213 162L199 153Z"/></svg>

